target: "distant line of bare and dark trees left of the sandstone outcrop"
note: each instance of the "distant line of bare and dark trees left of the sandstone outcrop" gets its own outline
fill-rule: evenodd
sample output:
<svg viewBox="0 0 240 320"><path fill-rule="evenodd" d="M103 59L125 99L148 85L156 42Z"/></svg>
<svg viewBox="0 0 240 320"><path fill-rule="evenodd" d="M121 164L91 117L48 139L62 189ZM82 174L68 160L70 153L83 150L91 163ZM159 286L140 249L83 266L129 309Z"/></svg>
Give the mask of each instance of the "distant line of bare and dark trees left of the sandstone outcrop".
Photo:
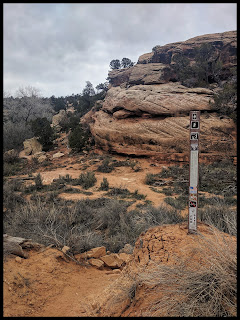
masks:
<svg viewBox="0 0 240 320"><path fill-rule="evenodd" d="M95 90L96 89L96 90ZM18 89L16 97L5 95L3 98L3 149L4 151L23 148L23 141L37 137L43 145L43 151L53 147L56 132L51 127L52 117L60 110L74 107L75 112L68 113L67 120L62 123L62 131L71 131L74 147L78 151L83 147L83 141L89 140L89 131L81 128L80 118L86 114L97 100L103 100L108 90L108 82L93 87L90 81L81 94L50 98L41 97L39 90L28 86ZM76 129L76 132L73 132ZM86 132L85 132L86 131ZM76 143L78 137L82 135ZM86 138L88 137L88 138ZM71 146L70 146L71 147Z"/></svg>

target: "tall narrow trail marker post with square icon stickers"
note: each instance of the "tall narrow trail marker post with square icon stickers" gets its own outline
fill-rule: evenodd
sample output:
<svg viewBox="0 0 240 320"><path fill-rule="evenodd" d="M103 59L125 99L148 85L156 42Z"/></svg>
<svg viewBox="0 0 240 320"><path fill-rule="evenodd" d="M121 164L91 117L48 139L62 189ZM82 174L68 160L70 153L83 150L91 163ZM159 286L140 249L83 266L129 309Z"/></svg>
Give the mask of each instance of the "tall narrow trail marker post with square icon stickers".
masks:
<svg viewBox="0 0 240 320"><path fill-rule="evenodd" d="M190 111L188 232L197 232L200 111Z"/></svg>

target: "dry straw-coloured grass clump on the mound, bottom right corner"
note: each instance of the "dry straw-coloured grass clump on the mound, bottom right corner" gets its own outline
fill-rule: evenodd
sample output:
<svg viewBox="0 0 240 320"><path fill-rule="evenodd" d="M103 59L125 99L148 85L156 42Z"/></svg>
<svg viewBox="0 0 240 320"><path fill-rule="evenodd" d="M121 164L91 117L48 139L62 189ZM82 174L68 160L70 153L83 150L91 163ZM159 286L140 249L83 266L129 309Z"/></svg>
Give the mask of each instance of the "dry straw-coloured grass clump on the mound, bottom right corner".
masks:
<svg viewBox="0 0 240 320"><path fill-rule="evenodd" d="M211 239L200 235L193 255L177 265L156 264L138 275L140 283L154 288L144 316L236 316L236 243L213 233Z"/></svg>

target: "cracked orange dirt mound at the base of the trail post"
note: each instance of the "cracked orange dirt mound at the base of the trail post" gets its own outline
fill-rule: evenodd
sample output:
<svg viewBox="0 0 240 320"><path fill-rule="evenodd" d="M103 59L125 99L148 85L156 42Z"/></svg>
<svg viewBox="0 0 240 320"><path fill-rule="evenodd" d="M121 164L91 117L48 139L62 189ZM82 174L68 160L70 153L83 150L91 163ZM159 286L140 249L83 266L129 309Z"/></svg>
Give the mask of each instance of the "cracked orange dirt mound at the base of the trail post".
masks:
<svg viewBox="0 0 240 320"><path fill-rule="evenodd" d="M207 265L205 258L213 253L213 248L214 254L220 256L223 253L220 251L224 250L218 250L224 246L230 248L233 254L236 253L236 238L203 223L198 225L198 234L188 234L186 222L149 229L136 241L133 259L123 269L121 276L105 290L104 298L99 297L97 314L121 317L153 316L150 310L156 301L159 303L164 289L167 293L169 282L161 280L163 283L165 281L166 288L159 290L157 280L154 280L159 277L158 271L161 271L162 266L179 266L184 261L184 268L202 268ZM173 271L172 276L174 274ZM151 281L148 281L149 279ZM158 316L165 316L161 311L157 312Z"/></svg>

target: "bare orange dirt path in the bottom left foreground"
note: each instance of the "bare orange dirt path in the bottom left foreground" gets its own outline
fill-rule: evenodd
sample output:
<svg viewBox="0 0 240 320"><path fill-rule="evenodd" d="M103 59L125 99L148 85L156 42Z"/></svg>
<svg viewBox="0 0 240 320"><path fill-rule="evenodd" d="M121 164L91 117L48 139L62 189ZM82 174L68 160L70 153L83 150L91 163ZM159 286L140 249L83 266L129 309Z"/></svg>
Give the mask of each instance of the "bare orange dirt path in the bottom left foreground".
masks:
<svg viewBox="0 0 240 320"><path fill-rule="evenodd" d="M93 316L98 295L119 274L66 262L53 248L31 251L28 259L4 262L5 317Z"/></svg>

